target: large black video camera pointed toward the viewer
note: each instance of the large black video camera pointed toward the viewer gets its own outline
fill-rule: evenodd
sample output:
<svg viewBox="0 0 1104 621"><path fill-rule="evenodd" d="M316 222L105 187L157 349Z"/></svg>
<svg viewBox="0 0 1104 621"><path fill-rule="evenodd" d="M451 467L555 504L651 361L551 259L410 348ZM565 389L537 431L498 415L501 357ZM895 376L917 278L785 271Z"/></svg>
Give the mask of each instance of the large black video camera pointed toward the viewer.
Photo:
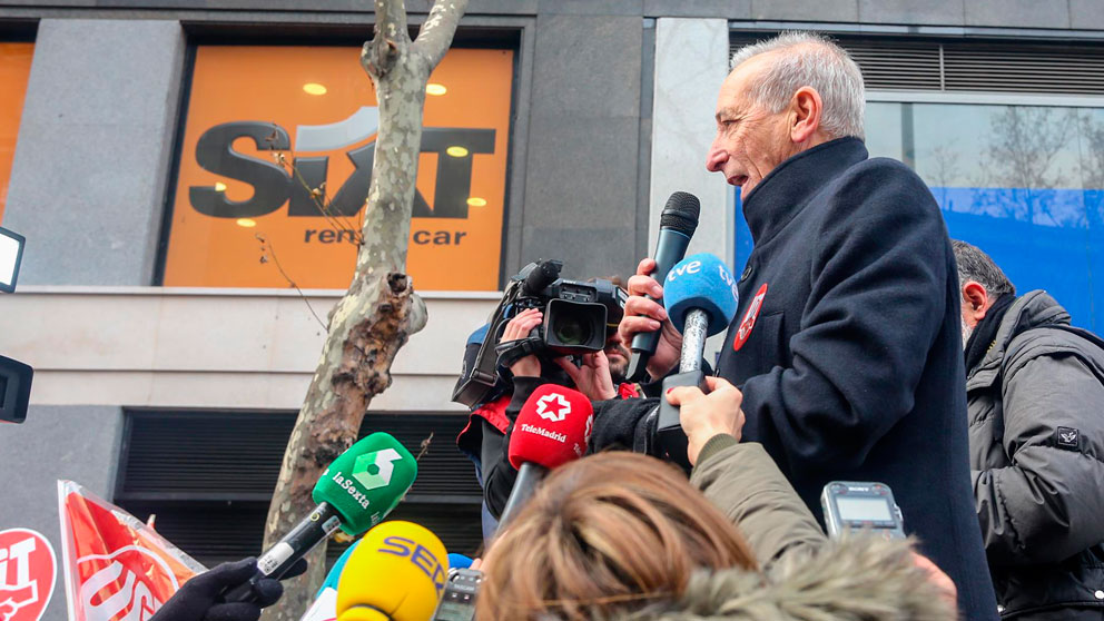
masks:
<svg viewBox="0 0 1104 621"><path fill-rule="evenodd" d="M558 357L599 352L624 314L628 294L611 280L568 280L563 262L539 260L510 278L502 302L491 313L489 331L474 359L464 357L452 400L469 407L486 401L499 383L499 366L528 355ZM519 313L539 308L544 323L528 338L500 343L506 324Z"/></svg>

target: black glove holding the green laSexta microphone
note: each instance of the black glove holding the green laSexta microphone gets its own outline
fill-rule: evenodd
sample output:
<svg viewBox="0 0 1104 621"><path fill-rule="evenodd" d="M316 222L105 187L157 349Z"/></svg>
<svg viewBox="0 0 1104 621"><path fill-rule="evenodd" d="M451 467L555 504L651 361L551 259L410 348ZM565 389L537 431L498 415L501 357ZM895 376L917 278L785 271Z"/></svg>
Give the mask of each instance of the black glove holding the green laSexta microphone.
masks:
<svg viewBox="0 0 1104 621"><path fill-rule="evenodd" d="M306 570L306 560L299 559L283 579ZM273 605L284 594L279 580L262 578L254 582L254 601L226 603L221 598L225 591L249 582L256 573L257 559L223 563L185 582L149 621L257 621L260 609Z"/></svg>

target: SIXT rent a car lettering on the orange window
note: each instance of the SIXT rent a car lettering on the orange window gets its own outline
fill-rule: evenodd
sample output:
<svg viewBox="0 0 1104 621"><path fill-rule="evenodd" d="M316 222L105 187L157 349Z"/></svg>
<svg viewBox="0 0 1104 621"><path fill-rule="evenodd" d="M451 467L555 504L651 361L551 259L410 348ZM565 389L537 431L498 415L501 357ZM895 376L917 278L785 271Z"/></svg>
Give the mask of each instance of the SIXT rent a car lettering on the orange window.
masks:
<svg viewBox="0 0 1104 621"><path fill-rule="evenodd" d="M364 206L372 181L372 162L375 140L356 146L372 138L379 126L379 111L376 107L364 106L347 119L328 125L300 125L295 129L295 152L293 160L295 177L270 160L243 155L234 150L234 142L241 138L252 139L260 150L288 150L290 138L283 127L262 121L234 121L217 125L203 134L196 144L196 164L216 175L236 179L253 186L253 196L245 200L231 200L226 193L215 186L191 186L188 198L200 214L215 218L254 218L272 214L285 204L289 217L322 217L314 197L307 188L334 187L326 184L331 155L344 151L354 170L343 181L337 191L328 197L331 210L338 217L352 217ZM415 218L467 218L467 198L472 185L472 157L476 154L494 152L494 129L472 129L461 127L426 127L422 130L421 151L436 154L437 174L435 179L433 208L421 193L414 197ZM351 148L352 147L352 148ZM462 147L464 155L446 154L451 147ZM349 148L349 150L345 150ZM453 154L457 149L452 149ZM298 179L302 177L302 180ZM304 187L306 186L306 187ZM326 197L324 197L325 200ZM325 233L329 235L324 235ZM421 234L421 235L420 235ZM415 244L447 245L459 244L464 233L460 231L415 231ZM305 231L304 241L354 243L349 231L313 230Z"/></svg>

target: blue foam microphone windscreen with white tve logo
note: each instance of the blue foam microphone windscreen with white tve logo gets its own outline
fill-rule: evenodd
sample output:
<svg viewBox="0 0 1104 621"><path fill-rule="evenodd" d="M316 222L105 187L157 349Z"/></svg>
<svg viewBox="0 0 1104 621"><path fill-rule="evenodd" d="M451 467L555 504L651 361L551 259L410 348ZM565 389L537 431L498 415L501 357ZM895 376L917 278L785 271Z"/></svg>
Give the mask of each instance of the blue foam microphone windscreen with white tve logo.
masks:
<svg viewBox="0 0 1104 621"><path fill-rule="evenodd" d="M691 255L671 268L663 282L663 305L679 332L687 313L701 308L709 315L709 336L723 332L736 315L739 294L724 262L708 253Z"/></svg>

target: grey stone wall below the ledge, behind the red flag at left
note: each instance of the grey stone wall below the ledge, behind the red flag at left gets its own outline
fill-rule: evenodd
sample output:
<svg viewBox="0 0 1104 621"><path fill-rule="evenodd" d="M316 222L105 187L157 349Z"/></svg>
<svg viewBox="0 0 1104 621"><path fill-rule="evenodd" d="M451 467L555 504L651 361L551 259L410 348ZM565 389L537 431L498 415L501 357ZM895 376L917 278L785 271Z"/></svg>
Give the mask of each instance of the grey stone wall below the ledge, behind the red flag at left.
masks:
<svg viewBox="0 0 1104 621"><path fill-rule="evenodd" d="M0 425L0 531L24 528L46 535L58 558L58 579L45 621L63 621L59 479L111 499L122 438L122 410L32 406L21 425Z"/></svg>

